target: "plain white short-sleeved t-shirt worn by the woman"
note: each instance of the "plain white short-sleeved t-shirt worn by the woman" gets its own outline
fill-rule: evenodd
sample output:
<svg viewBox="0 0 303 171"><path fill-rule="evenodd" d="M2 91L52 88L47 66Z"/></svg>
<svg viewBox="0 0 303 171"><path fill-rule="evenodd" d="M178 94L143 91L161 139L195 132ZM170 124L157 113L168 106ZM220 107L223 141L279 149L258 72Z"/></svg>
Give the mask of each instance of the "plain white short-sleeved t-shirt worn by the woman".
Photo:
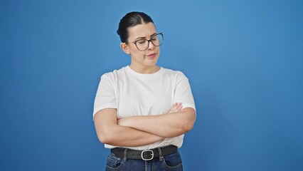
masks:
<svg viewBox="0 0 303 171"><path fill-rule="evenodd" d="M160 68L156 73L142 74L126 66L101 76L93 115L104 108L116 108L118 119L134 115L161 115L168 113L174 103L182 103L183 108L196 110L191 87L184 73ZM146 150L166 145L181 147L183 138L184 135L179 135L130 148Z"/></svg>

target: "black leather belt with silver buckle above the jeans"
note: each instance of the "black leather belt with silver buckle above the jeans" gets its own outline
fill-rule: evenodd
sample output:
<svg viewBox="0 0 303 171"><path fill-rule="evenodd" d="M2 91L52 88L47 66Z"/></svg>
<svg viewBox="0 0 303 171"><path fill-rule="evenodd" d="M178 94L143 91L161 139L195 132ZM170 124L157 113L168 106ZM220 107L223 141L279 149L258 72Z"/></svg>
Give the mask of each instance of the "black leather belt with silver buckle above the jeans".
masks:
<svg viewBox="0 0 303 171"><path fill-rule="evenodd" d="M161 155L170 155L178 150L174 145L168 145L165 147L160 147ZM110 152L114 153L116 157L124 158L125 148L116 147L112 148ZM142 160L152 160L153 158L159 157L158 148L151 150L131 150L127 149L127 159L142 159Z"/></svg>

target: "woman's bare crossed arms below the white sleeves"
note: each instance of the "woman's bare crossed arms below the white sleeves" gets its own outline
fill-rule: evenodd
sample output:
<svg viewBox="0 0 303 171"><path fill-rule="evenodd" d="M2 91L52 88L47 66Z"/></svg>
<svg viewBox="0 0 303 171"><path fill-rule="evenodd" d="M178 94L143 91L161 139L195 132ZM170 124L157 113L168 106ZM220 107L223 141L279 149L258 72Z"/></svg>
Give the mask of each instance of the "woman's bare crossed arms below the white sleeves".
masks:
<svg viewBox="0 0 303 171"><path fill-rule="evenodd" d="M196 111L193 108L181 108L181 103L175 103L166 114L132 116L119 120L115 108L99 110L95 114L97 137L107 145L137 147L182 135L193 128Z"/></svg>

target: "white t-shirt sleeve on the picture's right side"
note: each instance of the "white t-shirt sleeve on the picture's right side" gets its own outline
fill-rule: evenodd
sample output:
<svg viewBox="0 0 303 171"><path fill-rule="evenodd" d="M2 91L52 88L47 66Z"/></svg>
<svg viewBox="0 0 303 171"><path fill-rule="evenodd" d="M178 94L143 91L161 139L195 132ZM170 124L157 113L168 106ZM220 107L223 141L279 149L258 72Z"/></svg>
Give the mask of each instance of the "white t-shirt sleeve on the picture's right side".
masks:
<svg viewBox="0 0 303 171"><path fill-rule="evenodd" d="M174 96L174 102L181 102L183 108L193 108L196 110L193 94L191 93L191 86L189 85L188 78L186 78L182 72L178 72Z"/></svg>

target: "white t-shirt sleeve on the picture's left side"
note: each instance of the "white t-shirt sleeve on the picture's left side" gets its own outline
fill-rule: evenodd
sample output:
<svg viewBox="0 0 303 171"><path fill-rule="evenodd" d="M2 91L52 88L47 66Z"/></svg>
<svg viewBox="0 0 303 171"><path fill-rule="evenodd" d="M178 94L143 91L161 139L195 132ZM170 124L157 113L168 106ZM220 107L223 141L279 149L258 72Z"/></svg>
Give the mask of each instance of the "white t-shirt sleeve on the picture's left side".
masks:
<svg viewBox="0 0 303 171"><path fill-rule="evenodd" d="M106 74L103 74L97 89L92 116L94 117L97 111L105 108L117 108L117 102L113 81Z"/></svg>

